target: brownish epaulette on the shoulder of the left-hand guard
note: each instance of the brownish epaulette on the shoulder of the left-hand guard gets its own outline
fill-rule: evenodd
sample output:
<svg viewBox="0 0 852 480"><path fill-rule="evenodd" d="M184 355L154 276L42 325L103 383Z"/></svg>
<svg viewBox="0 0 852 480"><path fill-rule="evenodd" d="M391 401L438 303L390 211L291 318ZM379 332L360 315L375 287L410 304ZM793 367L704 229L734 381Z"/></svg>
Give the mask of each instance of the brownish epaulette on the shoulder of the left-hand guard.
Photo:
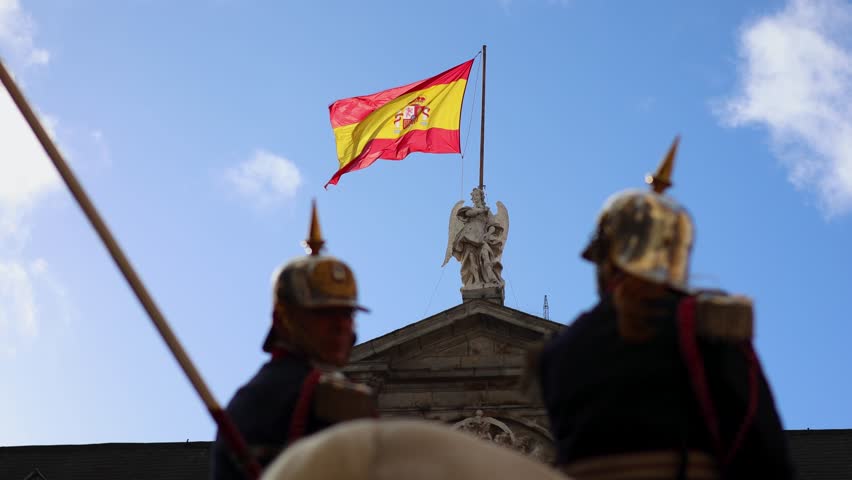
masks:
<svg viewBox="0 0 852 480"><path fill-rule="evenodd" d="M323 373L314 391L314 413L330 422L370 418L376 414L373 389L340 373Z"/></svg>

